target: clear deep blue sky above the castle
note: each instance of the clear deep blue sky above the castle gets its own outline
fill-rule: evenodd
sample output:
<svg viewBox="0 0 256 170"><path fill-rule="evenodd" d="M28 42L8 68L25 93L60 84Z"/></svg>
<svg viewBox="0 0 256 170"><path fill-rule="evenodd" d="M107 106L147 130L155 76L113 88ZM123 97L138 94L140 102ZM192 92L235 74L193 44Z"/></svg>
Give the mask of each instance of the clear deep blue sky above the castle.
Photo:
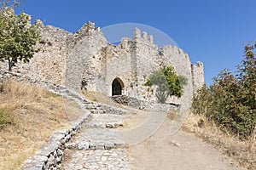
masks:
<svg viewBox="0 0 256 170"><path fill-rule="evenodd" d="M25 0L21 4L45 25L78 31L87 21L104 27L139 23L164 31L201 60L207 85L224 68L234 71L243 42L256 40L256 0Z"/></svg>

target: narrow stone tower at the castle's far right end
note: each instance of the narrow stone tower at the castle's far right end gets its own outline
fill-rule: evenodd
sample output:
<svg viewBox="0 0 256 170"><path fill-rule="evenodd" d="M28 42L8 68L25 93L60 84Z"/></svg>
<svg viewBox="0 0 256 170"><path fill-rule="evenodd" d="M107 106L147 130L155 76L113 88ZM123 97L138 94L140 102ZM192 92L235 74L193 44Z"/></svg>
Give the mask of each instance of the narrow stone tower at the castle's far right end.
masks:
<svg viewBox="0 0 256 170"><path fill-rule="evenodd" d="M196 94L197 90L205 84L204 67L202 62L197 61L195 65L191 65L191 69L193 77L193 92Z"/></svg>

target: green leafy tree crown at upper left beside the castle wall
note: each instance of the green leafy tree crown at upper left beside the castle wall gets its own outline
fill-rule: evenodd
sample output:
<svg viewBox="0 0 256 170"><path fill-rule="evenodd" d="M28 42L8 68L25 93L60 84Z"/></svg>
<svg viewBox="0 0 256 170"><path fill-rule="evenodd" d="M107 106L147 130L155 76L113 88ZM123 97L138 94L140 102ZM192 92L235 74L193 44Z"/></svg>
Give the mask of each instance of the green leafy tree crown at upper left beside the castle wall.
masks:
<svg viewBox="0 0 256 170"><path fill-rule="evenodd" d="M14 8L19 2L1 2L0 11L0 60L7 60L9 71L17 62L29 62L39 40L38 26L31 25L30 16L24 13L15 14ZM9 5L9 6L8 6Z"/></svg>

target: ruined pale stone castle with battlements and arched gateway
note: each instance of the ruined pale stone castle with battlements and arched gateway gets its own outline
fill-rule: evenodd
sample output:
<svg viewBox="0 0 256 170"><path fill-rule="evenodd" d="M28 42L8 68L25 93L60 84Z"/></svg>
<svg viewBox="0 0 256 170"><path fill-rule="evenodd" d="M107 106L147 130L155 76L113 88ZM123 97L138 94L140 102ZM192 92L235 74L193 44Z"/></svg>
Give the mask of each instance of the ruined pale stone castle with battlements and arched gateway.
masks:
<svg viewBox="0 0 256 170"><path fill-rule="evenodd" d="M113 45L92 22L75 33L44 26L40 20L36 24L45 43L38 43L41 50L29 63L14 68L28 77L108 96L125 94L154 100L154 88L144 83L152 71L172 65L178 75L188 78L182 96L183 105L188 106L204 84L201 62L191 65L188 54L176 46L158 48L153 36L137 28L132 38L123 37L119 45ZM6 63L0 68L7 68Z"/></svg>

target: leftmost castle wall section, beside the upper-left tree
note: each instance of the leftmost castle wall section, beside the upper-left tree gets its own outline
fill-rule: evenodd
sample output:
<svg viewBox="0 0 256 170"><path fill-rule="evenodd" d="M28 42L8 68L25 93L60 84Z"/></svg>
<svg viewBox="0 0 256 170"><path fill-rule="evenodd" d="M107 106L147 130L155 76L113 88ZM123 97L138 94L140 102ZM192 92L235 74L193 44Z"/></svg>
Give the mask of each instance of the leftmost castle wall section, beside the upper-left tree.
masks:
<svg viewBox="0 0 256 170"><path fill-rule="evenodd" d="M13 71L34 80L62 84L67 56L67 37L72 33L54 26L44 26L40 20L36 23L39 24L44 43L38 43L37 48L40 51L34 54L29 63L19 62L13 67ZM1 69L7 71L8 63L4 62Z"/></svg>

